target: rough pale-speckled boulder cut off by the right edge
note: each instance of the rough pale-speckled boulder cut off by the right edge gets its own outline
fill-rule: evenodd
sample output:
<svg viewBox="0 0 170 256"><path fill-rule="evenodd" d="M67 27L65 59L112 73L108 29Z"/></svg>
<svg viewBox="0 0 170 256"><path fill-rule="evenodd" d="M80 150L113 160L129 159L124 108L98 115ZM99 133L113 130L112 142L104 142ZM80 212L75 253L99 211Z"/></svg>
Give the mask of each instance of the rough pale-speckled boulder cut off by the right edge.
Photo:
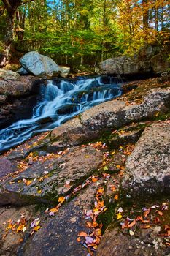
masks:
<svg viewBox="0 0 170 256"><path fill-rule="evenodd" d="M170 122L147 127L126 162L123 191L137 197L170 192Z"/></svg>

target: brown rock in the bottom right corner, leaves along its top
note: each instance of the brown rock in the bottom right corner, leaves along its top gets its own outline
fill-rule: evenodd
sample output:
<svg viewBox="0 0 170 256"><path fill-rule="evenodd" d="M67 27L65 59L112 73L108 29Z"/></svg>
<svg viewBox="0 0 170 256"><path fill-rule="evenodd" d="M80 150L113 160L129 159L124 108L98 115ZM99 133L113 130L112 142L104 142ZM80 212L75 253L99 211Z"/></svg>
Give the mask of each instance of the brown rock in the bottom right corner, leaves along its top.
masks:
<svg viewBox="0 0 170 256"><path fill-rule="evenodd" d="M169 247L158 237L160 227L138 230L134 236L120 228L108 228L97 249L97 256L160 256L169 255Z"/></svg>

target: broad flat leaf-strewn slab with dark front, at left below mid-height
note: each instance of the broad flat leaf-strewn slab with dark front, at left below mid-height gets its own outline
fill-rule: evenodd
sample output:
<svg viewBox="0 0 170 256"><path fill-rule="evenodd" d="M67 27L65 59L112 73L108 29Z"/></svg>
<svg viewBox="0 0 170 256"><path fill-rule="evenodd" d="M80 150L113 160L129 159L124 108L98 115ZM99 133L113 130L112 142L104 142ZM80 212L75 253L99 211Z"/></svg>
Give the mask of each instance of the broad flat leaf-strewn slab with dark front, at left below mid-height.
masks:
<svg viewBox="0 0 170 256"><path fill-rule="evenodd" d="M15 178L1 182L0 205L56 201L81 184L102 161L102 152L92 146L74 147L61 157L56 154L53 159L37 161Z"/></svg>

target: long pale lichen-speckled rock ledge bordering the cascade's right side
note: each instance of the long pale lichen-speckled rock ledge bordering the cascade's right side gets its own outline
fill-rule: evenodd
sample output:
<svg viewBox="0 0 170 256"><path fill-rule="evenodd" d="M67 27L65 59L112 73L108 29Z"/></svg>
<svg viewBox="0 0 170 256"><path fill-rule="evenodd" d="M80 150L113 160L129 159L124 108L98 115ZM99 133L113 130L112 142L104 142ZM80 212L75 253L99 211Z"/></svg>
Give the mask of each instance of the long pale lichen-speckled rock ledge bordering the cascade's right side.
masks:
<svg viewBox="0 0 170 256"><path fill-rule="evenodd" d="M53 129L53 146L78 145L98 138L104 131L117 129L133 121L151 118L169 108L170 90L153 89L140 105L125 105L120 100L112 100L86 110L79 118Z"/></svg>

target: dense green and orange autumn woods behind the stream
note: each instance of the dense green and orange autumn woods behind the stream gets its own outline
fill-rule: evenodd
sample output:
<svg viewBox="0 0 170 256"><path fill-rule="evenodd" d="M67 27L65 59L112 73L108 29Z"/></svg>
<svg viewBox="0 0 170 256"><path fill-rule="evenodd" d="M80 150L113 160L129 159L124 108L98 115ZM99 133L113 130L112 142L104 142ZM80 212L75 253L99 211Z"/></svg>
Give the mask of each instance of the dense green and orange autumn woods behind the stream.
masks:
<svg viewBox="0 0 170 256"><path fill-rule="evenodd" d="M0 50L39 50L58 64L85 64L169 41L167 0L1 0Z"/></svg>

